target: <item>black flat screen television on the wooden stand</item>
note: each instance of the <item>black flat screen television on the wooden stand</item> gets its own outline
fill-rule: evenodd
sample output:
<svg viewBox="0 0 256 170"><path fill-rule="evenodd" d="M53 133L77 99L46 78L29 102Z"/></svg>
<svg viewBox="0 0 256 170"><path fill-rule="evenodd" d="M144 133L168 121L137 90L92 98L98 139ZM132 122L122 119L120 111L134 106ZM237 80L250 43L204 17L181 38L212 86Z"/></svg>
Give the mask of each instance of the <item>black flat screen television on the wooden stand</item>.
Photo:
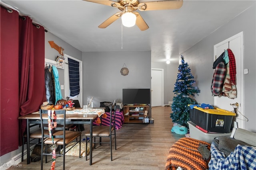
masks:
<svg viewBox="0 0 256 170"><path fill-rule="evenodd" d="M123 88L123 104L150 104L150 89Z"/></svg>

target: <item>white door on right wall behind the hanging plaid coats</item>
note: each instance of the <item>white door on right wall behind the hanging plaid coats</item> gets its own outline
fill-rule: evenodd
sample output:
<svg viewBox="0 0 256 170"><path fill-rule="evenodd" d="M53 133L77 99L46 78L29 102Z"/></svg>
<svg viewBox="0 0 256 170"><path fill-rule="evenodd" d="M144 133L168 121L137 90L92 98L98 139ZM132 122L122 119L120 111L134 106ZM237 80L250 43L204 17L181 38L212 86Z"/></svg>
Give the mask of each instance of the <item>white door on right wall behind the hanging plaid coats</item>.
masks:
<svg viewBox="0 0 256 170"><path fill-rule="evenodd" d="M234 111L230 104L238 103L238 116L235 121L238 122L238 127L244 129L244 77L243 77L243 32L240 32L216 45L214 45L214 61L223 53L224 49L231 49L236 59L236 90L237 98L230 99L225 96L215 96L214 106L228 111Z"/></svg>

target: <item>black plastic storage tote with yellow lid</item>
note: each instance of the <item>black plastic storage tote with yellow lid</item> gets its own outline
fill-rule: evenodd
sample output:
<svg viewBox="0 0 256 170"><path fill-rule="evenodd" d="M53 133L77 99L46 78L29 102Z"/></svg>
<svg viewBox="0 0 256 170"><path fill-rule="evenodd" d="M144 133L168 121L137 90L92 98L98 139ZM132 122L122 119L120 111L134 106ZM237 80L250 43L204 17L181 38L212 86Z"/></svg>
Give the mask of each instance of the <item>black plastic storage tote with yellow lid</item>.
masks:
<svg viewBox="0 0 256 170"><path fill-rule="evenodd" d="M190 121L209 132L229 133L233 116L236 113L214 107L203 109L194 106L190 108Z"/></svg>

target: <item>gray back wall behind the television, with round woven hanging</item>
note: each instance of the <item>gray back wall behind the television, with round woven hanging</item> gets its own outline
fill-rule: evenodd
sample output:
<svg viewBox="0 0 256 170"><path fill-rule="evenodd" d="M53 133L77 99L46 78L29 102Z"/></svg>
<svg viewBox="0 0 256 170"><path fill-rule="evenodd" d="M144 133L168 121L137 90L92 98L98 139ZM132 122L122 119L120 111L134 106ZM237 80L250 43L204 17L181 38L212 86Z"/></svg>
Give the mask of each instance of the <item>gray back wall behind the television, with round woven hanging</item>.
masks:
<svg viewBox="0 0 256 170"><path fill-rule="evenodd" d="M127 76L120 74L124 63ZM151 52L83 52L83 88L83 101L93 97L94 107L122 102L123 88L151 88Z"/></svg>

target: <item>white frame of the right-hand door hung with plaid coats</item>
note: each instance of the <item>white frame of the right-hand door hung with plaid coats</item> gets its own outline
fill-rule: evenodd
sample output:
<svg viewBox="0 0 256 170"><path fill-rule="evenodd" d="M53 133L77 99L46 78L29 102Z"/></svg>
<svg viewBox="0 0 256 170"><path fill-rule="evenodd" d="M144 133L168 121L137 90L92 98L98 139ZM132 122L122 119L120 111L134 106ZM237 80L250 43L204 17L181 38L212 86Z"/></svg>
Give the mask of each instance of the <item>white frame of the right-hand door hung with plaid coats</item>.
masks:
<svg viewBox="0 0 256 170"><path fill-rule="evenodd" d="M242 112L242 114L244 115L244 74L243 74L243 70L244 70L244 42L243 42L243 31L228 38L225 39L224 41L214 45L214 58L216 58L215 56L217 55L217 47L224 45L226 43L229 43L230 41L234 40L234 39L240 39L240 60L236 59L236 63L240 63L241 64L241 68L240 70L236 70L237 74L240 74L240 112ZM215 60L215 59L214 59ZM238 82L237 82L238 83ZM216 100L218 100L218 97L214 97L214 104L216 102ZM229 110L230 111L230 110ZM238 113L238 117L239 119L243 119L243 116ZM240 128L244 129L244 121L240 120Z"/></svg>

